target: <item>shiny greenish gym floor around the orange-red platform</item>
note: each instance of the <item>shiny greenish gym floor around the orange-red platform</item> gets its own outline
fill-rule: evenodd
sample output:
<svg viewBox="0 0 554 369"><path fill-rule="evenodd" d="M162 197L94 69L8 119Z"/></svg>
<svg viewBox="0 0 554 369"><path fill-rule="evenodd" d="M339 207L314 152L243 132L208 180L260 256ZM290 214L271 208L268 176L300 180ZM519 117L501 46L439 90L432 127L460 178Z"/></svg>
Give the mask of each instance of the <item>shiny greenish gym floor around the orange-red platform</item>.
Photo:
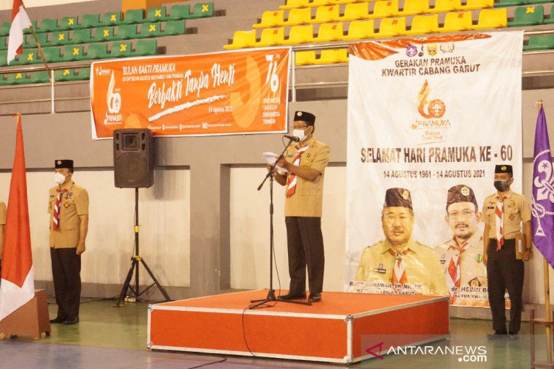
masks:
<svg viewBox="0 0 554 369"><path fill-rule="evenodd" d="M52 299L48 299L53 302ZM114 307L114 300L83 300L78 325L53 325L51 336L39 340L10 337L0 341L0 369L39 368L344 368L337 364L287 361L183 352L154 352L146 347L148 303ZM49 305L51 316L56 306ZM452 318L452 336L428 343L427 352L389 353L356 363L355 368L530 368L528 323L519 340L489 341L490 321ZM540 332L542 333L542 332ZM537 352L544 359L544 336ZM463 362L461 354L443 354L446 348L481 348L483 357ZM477 352L479 353L479 352ZM481 352L483 353L483 352ZM467 359L472 359L468 357ZM481 360L479 362L475 360ZM483 361L485 360L485 361Z"/></svg>

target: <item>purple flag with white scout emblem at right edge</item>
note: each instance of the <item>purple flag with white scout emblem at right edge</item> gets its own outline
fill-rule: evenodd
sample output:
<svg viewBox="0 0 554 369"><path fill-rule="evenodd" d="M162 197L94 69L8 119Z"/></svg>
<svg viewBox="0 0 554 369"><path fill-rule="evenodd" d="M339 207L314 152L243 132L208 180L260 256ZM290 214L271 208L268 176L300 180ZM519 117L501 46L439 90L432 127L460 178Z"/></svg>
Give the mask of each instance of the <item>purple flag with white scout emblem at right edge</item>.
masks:
<svg viewBox="0 0 554 369"><path fill-rule="evenodd" d="M554 267L554 172L543 107L537 117L533 157L533 243Z"/></svg>

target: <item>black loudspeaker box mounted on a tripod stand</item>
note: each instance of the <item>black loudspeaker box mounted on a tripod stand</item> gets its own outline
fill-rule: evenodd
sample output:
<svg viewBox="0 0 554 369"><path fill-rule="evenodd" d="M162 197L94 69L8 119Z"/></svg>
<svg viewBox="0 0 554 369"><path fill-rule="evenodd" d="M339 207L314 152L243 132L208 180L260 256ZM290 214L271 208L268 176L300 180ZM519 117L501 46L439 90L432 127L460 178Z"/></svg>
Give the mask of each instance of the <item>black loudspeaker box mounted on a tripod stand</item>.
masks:
<svg viewBox="0 0 554 369"><path fill-rule="evenodd" d="M150 129L114 130L114 177L119 188L154 184L154 138Z"/></svg>

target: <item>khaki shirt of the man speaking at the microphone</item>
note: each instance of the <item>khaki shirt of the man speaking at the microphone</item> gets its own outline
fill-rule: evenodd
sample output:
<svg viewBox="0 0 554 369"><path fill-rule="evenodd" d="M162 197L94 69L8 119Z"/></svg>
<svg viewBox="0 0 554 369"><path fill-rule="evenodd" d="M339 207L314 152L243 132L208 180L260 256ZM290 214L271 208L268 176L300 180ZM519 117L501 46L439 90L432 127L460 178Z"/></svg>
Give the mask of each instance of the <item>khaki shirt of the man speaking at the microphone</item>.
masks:
<svg viewBox="0 0 554 369"><path fill-rule="evenodd" d="M314 181L308 181L296 176L296 191L291 197L287 196L288 187L285 186L285 217L321 217L323 205L323 177L329 163L329 146L316 141L314 136L305 143L309 148L300 156L300 166L318 170L321 175ZM287 149L287 161L294 162L300 145L291 145ZM287 181L290 172L287 173Z"/></svg>

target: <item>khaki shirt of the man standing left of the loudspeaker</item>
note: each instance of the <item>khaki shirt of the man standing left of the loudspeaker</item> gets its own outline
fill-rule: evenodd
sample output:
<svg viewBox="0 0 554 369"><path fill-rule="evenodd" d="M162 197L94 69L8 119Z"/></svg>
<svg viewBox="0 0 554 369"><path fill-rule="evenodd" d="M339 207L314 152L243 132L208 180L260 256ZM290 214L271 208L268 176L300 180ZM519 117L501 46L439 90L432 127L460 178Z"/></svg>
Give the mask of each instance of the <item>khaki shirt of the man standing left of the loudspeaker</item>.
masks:
<svg viewBox="0 0 554 369"><path fill-rule="evenodd" d="M55 249L70 249L77 247L80 237L79 215L89 215L89 193L77 186L73 181L62 185L66 189L60 204L60 224L53 231L54 205L58 192L57 186L48 191L48 213L50 213L50 247Z"/></svg>

